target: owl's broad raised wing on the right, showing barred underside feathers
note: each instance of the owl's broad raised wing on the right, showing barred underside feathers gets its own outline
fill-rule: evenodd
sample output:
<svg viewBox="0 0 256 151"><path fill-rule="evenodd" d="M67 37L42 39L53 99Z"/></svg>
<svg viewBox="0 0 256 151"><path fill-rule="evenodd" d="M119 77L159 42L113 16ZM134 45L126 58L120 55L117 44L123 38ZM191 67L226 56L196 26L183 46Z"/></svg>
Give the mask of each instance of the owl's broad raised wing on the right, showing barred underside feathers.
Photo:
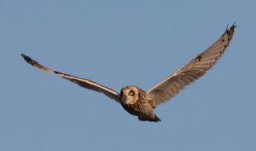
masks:
<svg viewBox="0 0 256 151"><path fill-rule="evenodd" d="M224 34L219 37L206 51L192 59L188 64L176 70L166 80L161 81L147 92L149 103L156 107L160 103L165 103L175 97L178 92L183 90L191 82L203 76L207 70L217 63L226 48L229 46L232 36L234 35L236 25L226 29Z"/></svg>

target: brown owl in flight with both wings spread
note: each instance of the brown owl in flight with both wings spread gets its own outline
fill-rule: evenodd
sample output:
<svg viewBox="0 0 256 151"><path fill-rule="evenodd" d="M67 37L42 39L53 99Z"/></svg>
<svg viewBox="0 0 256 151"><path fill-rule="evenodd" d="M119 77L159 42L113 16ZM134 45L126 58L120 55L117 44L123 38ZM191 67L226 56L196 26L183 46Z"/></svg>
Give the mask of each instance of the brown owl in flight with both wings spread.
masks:
<svg viewBox="0 0 256 151"><path fill-rule="evenodd" d="M156 84L148 91L144 91L136 86L127 86L123 87L120 92L115 92L113 89L102 86L95 81L51 70L25 54L21 54L21 56L28 64L40 70L61 76L68 81L73 81L81 87L96 92L102 92L108 96L108 98L112 98L119 103L128 113L136 115L138 120L157 122L160 121L160 118L154 114L154 109L159 104L166 103L168 100L175 97L184 87L203 76L207 70L210 70L229 46L235 29L235 24L229 29L227 28L224 34L220 36L212 46L207 48L207 50L197 55L194 59L190 60L189 63L183 65L183 67L176 70L172 75L167 76L164 81Z"/></svg>

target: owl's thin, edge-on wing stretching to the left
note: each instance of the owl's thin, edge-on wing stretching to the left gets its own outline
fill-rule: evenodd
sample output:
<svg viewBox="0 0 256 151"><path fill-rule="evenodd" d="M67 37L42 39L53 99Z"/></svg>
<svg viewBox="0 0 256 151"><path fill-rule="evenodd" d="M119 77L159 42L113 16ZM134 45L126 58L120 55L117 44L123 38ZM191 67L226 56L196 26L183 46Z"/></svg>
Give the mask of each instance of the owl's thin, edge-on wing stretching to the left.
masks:
<svg viewBox="0 0 256 151"><path fill-rule="evenodd" d="M108 87L104 87L94 81L90 81L88 79L79 78L77 76L70 76L55 70L50 70L49 68L43 66L42 64L39 64L37 61L27 57L25 54L21 54L21 56L26 60L28 64L32 64L32 66L37 67L40 70L44 70L46 72L49 72L51 74L55 74L57 76L61 76L64 79L67 79L69 81L73 81L77 83L81 87L89 88L90 90L94 90L96 92L102 92L109 98L114 99L116 102L119 103L119 94L118 92L113 91L112 89Z"/></svg>

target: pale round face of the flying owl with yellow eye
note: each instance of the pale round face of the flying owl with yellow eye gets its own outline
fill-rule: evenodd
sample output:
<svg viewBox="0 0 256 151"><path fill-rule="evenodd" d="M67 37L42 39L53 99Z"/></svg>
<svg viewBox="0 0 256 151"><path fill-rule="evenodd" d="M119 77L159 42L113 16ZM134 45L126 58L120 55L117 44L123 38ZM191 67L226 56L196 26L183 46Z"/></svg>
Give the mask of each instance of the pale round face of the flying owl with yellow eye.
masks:
<svg viewBox="0 0 256 151"><path fill-rule="evenodd" d="M122 104L129 105L136 103L138 100L138 89L137 87L129 86L122 88L121 92L119 93L119 98Z"/></svg>

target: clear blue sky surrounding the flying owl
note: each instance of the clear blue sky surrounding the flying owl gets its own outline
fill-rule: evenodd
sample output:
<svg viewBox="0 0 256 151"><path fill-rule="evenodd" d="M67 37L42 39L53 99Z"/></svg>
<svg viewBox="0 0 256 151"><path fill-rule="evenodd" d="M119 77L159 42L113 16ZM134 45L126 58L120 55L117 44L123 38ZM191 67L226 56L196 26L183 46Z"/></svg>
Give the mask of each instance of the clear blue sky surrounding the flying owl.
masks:
<svg viewBox="0 0 256 151"><path fill-rule="evenodd" d="M256 1L0 0L0 150L256 150ZM218 64L142 122L101 93L32 68L118 91L148 90L215 42Z"/></svg>

